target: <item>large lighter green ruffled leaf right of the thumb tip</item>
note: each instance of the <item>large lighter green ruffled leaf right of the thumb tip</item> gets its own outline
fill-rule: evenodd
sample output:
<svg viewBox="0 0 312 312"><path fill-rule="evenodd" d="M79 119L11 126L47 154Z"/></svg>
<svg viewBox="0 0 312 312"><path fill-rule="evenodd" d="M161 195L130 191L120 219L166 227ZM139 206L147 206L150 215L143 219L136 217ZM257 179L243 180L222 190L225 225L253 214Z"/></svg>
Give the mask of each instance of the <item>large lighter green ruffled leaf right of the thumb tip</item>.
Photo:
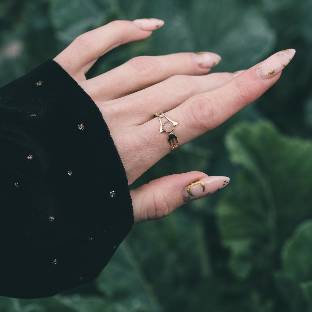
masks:
<svg viewBox="0 0 312 312"><path fill-rule="evenodd" d="M231 251L236 276L269 274L277 266L279 246L299 222L312 217L307 187L312 185L312 143L260 121L237 124L226 145L239 167L217 208L222 242Z"/></svg>

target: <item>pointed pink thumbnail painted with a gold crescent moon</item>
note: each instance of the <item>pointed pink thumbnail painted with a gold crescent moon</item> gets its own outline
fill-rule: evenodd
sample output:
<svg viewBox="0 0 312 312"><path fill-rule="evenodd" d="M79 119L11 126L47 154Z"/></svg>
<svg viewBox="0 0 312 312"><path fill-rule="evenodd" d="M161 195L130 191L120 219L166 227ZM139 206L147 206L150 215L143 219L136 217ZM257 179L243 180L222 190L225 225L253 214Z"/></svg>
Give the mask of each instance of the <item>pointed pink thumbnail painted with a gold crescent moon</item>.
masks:
<svg viewBox="0 0 312 312"><path fill-rule="evenodd" d="M182 192L183 201L190 202L192 200L205 197L224 188L230 182L230 178L215 176L205 177L201 180L189 184Z"/></svg>

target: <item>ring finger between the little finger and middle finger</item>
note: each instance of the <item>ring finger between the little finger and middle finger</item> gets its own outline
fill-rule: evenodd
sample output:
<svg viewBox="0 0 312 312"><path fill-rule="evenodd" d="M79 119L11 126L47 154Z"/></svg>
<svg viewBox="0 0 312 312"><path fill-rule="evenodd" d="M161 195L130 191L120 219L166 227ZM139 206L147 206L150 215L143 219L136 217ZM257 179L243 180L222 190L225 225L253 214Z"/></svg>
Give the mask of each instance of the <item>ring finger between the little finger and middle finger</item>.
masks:
<svg viewBox="0 0 312 312"><path fill-rule="evenodd" d="M82 82L93 100L112 100L174 75L204 75L221 57L212 52L139 56L100 76Z"/></svg>

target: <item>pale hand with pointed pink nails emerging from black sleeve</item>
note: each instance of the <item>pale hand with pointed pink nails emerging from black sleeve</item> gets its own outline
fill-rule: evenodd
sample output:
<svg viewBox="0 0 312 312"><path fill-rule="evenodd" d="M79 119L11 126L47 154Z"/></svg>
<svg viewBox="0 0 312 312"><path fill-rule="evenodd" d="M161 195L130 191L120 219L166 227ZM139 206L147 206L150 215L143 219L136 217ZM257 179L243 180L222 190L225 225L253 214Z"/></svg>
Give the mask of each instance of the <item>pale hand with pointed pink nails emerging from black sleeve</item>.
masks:
<svg viewBox="0 0 312 312"><path fill-rule="evenodd" d="M209 75L221 60L211 52L139 56L86 80L85 73L100 56L126 42L149 37L162 25L157 19L114 21L77 37L54 59L99 107L129 184L171 151L168 133L159 133L156 112L162 110L178 122L173 132L180 146L186 144L261 96L295 54L289 49L246 71ZM134 222L164 217L228 181L227 177L189 172L144 184L131 191Z"/></svg>

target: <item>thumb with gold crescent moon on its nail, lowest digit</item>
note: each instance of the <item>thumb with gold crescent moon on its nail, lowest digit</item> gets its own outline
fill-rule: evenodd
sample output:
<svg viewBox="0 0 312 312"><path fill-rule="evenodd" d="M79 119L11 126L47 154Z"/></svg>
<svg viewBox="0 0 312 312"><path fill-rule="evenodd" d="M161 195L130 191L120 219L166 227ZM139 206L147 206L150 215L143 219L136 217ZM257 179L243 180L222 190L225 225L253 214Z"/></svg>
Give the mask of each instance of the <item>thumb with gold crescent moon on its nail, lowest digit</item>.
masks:
<svg viewBox="0 0 312 312"><path fill-rule="evenodd" d="M162 177L130 191L134 223L160 219L192 200L224 188L230 179L192 171Z"/></svg>

